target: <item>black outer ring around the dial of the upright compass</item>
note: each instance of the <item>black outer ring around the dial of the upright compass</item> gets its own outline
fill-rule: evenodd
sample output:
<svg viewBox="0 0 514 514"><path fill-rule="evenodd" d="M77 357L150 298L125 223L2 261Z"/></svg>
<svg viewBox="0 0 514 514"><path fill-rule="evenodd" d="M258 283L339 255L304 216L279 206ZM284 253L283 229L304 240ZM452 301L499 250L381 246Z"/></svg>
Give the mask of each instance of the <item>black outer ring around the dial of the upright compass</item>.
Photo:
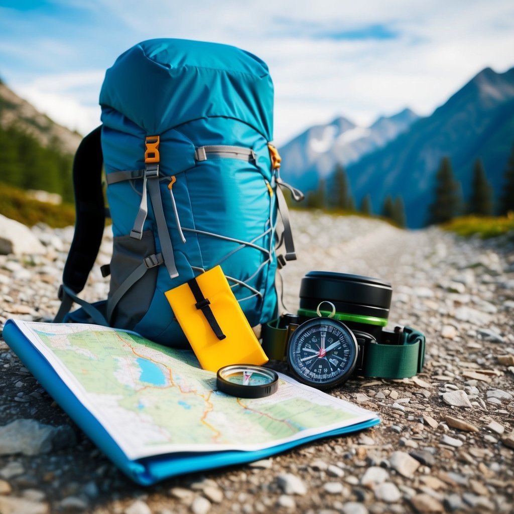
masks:
<svg viewBox="0 0 514 514"><path fill-rule="evenodd" d="M309 328L316 326L316 325L322 325L322 324L331 324L336 326L343 334L345 334L348 338L348 341L350 344L353 343L353 346L355 348L354 352L354 359L353 361L346 366L346 369L344 373L341 376L338 376L335 379L328 380L326 382L323 381L315 381L308 377L306 377L304 374L301 373L300 369L295 363L295 357L293 356L293 350L295 348L296 341L301 337L301 335L308 330ZM359 353L359 345L357 344L357 339L355 338L354 333L351 331L350 328L348 328L344 323L342 323L339 320L333 319L333 318L312 318L310 320L305 321L301 325L299 325L294 332L292 332L291 336L289 337L289 340L287 342L287 349L286 349L286 359L287 364L289 367L289 371L291 374L295 377L296 380L299 382L305 384L306 386L314 387L316 389L331 389L336 386L339 386L340 384L343 384L352 376L352 373L355 370L355 366L358 359L358 353Z"/></svg>

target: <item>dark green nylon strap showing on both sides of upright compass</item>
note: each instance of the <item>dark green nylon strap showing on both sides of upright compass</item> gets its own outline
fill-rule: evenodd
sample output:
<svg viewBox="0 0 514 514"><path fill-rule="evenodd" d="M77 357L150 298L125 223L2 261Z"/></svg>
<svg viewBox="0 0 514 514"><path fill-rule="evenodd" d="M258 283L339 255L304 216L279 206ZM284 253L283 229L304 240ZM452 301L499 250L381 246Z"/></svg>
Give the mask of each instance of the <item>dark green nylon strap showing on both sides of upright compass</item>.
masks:
<svg viewBox="0 0 514 514"><path fill-rule="evenodd" d="M278 327L279 320L263 325L262 348L269 359L284 360L287 328ZM408 378L423 369L425 336L411 327L404 327L400 344L366 344L362 371L359 375L379 378Z"/></svg>

